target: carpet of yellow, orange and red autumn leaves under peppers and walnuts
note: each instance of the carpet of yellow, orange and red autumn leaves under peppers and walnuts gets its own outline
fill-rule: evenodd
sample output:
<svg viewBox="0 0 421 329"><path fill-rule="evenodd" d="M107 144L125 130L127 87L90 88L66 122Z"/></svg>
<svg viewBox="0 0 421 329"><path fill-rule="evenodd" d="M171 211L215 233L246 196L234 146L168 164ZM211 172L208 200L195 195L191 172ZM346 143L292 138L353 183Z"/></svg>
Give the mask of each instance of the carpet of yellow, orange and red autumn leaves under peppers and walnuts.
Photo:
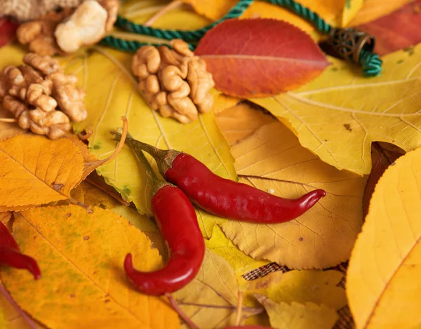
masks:
<svg viewBox="0 0 421 329"><path fill-rule="evenodd" d="M237 2L127 0L119 14L190 30ZM253 1L194 45L215 88L213 109L192 123L152 110L133 53L100 44L57 57L86 91L88 117L73 123L74 135L25 133L0 107L0 221L41 269L35 281L0 267L0 328L420 328L421 1L298 1L333 27L373 34L383 63L372 78L323 53L326 35L270 2ZM13 39L17 26L0 18L0 69L27 53ZM229 180L287 199L326 196L281 224L195 206L206 246L199 273L172 295L142 295L126 277L126 255L139 271L171 255L150 177L109 133L122 126Z"/></svg>

